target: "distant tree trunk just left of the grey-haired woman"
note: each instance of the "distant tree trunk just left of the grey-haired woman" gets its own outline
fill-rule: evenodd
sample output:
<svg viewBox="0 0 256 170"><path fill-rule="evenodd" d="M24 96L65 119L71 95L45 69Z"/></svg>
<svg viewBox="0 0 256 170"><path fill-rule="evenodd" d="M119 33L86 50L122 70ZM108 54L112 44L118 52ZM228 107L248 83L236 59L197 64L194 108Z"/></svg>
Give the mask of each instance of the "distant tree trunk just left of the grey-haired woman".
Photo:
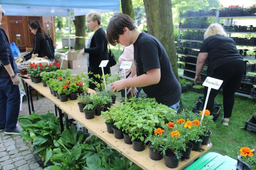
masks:
<svg viewBox="0 0 256 170"><path fill-rule="evenodd" d="M75 36L85 37L85 16L75 16ZM75 49L80 50L85 47L84 38L75 38Z"/></svg>

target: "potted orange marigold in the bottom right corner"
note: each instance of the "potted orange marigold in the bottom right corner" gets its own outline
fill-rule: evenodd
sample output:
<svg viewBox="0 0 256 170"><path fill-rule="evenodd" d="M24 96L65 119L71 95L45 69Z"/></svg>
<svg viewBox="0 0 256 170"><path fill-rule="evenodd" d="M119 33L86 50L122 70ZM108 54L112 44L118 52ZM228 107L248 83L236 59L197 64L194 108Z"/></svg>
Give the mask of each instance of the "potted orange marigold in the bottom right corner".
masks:
<svg viewBox="0 0 256 170"><path fill-rule="evenodd" d="M236 168L237 169L245 169L245 170L250 170L250 169L256 169L256 155L255 155L255 149L250 149L248 147L243 147L241 148L238 152L238 157L237 157L237 164Z"/></svg>

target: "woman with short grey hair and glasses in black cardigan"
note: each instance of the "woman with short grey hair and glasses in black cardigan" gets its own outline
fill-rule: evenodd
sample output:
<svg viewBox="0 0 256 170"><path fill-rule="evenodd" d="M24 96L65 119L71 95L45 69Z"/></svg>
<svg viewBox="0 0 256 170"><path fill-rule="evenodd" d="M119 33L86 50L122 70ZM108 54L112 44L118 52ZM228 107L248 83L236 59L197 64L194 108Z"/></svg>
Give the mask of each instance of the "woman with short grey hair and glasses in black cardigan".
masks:
<svg viewBox="0 0 256 170"><path fill-rule="evenodd" d="M88 72L93 74L102 75L102 69L99 67L102 60L109 60L108 57L108 40L105 31L101 28L101 13L91 11L86 14L87 25L90 30L94 31L92 37L90 37L86 47L80 50L78 56L81 56L85 52L87 53L87 67ZM104 74L110 74L109 62L106 67L103 67ZM95 78L93 74L89 75L89 78L93 78L93 81L100 82L98 78ZM95 89L96 85L90 83L90 89Z"/></svg>

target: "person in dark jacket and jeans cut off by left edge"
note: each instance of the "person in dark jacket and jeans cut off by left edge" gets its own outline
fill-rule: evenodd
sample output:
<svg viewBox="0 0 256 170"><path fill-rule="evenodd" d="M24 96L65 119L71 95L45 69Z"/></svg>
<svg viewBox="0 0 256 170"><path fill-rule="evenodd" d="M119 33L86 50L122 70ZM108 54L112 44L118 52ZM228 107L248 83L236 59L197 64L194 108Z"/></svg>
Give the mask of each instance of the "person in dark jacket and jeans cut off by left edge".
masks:
<svg viewBox="0 0 256 170"><path fill-rule="evenodd" d="M0 22L4 14L0 5ZM0 132L17 135L20 129L16 126L20 112L20 90L18 72L9 40L5 31L0 28Z"/></svg>

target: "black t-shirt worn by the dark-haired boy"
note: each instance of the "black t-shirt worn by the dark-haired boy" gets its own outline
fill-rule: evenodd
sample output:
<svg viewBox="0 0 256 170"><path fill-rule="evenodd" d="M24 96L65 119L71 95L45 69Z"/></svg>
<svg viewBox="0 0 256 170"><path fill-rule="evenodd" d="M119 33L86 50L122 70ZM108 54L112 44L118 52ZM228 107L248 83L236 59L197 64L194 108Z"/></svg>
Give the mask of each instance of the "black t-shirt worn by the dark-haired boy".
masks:
<svg viewBox="0 0 256 170"><path fill-rule="evenodd" d="M181 98L181 85L172 71L169 57L163 45L153 36L142 32L134 45L134 63L137 76L148 70L161 69L158 84L142 87L149 98L156 98L158 103L172 106Z"/></svg>

